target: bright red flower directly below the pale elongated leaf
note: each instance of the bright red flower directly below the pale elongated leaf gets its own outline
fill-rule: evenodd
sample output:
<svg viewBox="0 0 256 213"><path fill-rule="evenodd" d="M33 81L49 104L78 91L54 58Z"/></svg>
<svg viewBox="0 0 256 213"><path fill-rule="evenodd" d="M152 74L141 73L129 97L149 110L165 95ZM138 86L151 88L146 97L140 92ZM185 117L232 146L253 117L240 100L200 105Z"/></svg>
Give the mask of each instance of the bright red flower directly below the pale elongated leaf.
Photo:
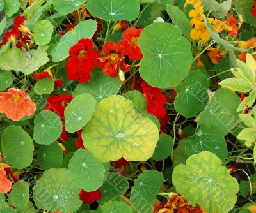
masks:
<svg viewBox="0 0 256 213"><path fill-rule="evenodd" d="M95 59L100 57L99 50L93 50L92 40L82 38L70 48L69 55L71 57L66 66L68 79L79 80L79 83L88 82Z"/></svg>

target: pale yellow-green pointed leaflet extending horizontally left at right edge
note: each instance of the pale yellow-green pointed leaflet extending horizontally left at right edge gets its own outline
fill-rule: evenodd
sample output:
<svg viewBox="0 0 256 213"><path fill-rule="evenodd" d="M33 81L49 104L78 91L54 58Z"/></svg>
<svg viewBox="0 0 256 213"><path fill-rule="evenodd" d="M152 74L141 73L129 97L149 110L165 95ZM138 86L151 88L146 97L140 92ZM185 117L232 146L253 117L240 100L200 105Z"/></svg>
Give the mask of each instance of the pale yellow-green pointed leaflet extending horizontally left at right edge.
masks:
<svg viewBox="0 0 256 213"><path fill-rule="evenodd" d="M243 78L227 78L219 83L219 85L226 87L228 89L238 91L238 92L250 92L253 85L244 80Z"/></svg>

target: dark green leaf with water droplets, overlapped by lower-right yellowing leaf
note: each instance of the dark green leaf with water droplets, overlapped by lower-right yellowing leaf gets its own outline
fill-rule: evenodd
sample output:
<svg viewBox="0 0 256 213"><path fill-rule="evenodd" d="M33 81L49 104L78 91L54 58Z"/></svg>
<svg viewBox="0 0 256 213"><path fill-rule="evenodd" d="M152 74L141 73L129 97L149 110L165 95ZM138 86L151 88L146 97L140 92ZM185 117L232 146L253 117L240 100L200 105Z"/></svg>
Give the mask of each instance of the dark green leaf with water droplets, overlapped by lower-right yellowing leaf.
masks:
<svg viewBox="0 0 256 213"><path fill-rule="evenodd" d="M228 156L227 143L217 128L200 126L195 135L188 137L186 154L191 156L202 151L209 151L224 161Z"/></svg>

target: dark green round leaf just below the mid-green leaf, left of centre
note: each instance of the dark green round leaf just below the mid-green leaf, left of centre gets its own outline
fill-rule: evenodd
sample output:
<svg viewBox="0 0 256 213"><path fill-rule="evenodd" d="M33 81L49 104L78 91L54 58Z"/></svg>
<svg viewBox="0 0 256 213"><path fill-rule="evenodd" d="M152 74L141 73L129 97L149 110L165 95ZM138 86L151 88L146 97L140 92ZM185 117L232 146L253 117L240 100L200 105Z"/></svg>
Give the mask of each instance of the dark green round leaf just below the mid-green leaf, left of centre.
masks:
<svg viewBox="0 0 256 213"><path fill-rule="evenodd" d="M37 155L37 163L44 169L60 168L63 162L63 151L57 143L42 145Z"/></svg>

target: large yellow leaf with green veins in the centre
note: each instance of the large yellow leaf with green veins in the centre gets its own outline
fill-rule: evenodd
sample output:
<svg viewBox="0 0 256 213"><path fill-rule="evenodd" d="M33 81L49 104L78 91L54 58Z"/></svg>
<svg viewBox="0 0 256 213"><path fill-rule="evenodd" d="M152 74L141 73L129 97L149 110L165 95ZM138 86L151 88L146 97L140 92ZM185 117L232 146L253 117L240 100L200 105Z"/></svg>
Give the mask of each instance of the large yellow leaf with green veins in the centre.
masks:
<svg viewBox="0 0 256 213"><path fill-rule="evenodd" d="M109 96L96 107L82 133L84 147L102 162L145 161L154 152L157 126L123 96Z"/></svg>

